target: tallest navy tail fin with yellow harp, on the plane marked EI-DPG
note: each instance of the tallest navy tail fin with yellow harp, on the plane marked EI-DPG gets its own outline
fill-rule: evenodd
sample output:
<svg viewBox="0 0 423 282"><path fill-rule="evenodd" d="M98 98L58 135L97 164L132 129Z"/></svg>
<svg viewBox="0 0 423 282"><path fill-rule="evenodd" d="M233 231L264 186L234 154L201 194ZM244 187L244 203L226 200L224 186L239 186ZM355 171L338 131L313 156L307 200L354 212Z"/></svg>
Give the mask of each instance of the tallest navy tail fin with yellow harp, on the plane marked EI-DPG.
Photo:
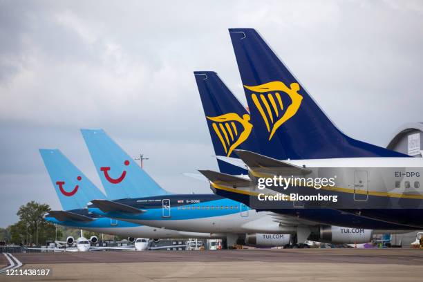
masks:
<svg viewBox="0 0 423 282"><path fill-rule="evenodd" d="M262 154L278 159L404 157L348 137L252 28L229 34Z"/></svg>

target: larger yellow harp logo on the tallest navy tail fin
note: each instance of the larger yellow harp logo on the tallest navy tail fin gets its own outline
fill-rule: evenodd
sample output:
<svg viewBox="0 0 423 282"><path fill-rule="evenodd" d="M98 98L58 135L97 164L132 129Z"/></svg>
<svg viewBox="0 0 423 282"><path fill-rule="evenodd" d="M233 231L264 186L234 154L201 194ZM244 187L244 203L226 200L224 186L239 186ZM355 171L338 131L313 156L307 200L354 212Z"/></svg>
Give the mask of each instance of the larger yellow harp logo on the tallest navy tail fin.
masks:
<svg viewBox="0 0 423 282"><path fill-rule="evenodd" d="M298 93L300 88L298 83L292 83L290 88L283 82L269 82L257 86L244 85L244 87L253 91L251 97L266 124L267 131L270 132L269 140L279 126L297 113L303 100L303 96ZM292 100L285 111L280 94L282 92L288 94Z"/></svg>

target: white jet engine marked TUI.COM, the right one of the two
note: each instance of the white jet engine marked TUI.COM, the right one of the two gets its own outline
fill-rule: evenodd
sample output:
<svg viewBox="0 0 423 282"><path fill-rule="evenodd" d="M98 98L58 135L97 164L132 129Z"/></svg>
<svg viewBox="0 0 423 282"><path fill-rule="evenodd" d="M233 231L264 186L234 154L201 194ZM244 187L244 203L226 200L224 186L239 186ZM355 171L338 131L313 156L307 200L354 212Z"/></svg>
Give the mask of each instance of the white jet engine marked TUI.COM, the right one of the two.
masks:
<svg viewBox="0 0 423 282"><path fill-rule="evenodd" d="M334 244L361 244L372 240L373 230L339 226L320 227L319 242Z"/></svg>

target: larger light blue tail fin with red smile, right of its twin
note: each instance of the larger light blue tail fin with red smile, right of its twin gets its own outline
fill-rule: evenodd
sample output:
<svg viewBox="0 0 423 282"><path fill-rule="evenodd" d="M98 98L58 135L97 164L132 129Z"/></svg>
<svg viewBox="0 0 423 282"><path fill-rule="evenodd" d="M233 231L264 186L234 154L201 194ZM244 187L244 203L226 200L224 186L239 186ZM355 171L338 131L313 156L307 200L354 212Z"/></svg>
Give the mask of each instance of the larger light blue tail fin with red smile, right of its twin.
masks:
<svg viewBox="0 0 423 282"><path fill-rule="evenodd" d="M81 129L95 169L110 199L169 194L102 129Z"/></svg>

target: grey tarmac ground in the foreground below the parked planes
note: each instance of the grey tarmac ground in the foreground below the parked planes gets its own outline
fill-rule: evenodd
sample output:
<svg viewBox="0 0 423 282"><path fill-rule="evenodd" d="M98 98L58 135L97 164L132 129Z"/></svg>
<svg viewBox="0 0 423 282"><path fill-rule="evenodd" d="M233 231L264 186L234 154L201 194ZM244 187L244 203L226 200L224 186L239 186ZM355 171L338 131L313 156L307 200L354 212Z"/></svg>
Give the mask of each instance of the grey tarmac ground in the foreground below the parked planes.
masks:
<svg viewBox="0 0 423 282"><path fill-rule="evenodd" d="M301 249L14 254L48 276L0 281L423 281L423 250ZM3 261L0 261L2 263Z"/></svg>

